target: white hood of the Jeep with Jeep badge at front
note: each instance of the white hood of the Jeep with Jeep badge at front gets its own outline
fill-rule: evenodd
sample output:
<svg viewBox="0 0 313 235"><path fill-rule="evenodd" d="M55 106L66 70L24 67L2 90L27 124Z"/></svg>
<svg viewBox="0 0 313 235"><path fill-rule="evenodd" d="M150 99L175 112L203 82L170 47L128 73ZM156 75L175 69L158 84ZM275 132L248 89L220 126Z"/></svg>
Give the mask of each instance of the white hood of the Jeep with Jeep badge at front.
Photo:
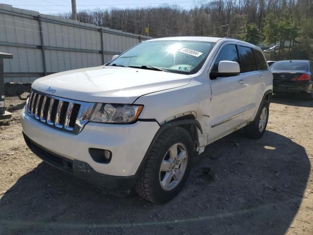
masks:
<svg viewBox="0 0 313 235"><path fill-rule="evenodd" d="M63 98L103 103L133 103L144 94L185 86L185 74L100 66L54 73L37 79L32 88Z"/></svg>

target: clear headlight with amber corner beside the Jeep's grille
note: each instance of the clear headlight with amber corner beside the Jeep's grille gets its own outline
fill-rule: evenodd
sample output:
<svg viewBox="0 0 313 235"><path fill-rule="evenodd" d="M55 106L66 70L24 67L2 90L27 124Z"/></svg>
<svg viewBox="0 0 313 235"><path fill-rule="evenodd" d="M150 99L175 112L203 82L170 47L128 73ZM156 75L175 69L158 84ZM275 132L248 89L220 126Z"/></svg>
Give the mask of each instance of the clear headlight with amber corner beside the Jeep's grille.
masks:
<svg viewBox="0 0 313 235"><path fill-rule="evenodd" d="M97 103L90 117L92 122L132 123L137 120L143 105Z"/></svg>

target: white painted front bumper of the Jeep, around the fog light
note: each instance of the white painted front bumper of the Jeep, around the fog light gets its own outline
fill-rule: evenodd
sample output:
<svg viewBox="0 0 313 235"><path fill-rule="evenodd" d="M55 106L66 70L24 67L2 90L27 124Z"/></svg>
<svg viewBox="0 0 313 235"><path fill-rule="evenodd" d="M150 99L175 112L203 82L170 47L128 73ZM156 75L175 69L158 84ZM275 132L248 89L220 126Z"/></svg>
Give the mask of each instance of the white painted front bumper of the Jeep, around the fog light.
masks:
<svg viewBox="0 0 313 235"><path fill-rule="evenodd" d="M76 161L86 163L95 172L121 177L135 175L159 129L159 125L153 121L137 121L129 125L90 122L78 135L73 135L38 122L24 109L21 122L27 138L45 151L72 161L73 164ZM111 162L95 162L89 154L89 148L110 150Z"/></svg>

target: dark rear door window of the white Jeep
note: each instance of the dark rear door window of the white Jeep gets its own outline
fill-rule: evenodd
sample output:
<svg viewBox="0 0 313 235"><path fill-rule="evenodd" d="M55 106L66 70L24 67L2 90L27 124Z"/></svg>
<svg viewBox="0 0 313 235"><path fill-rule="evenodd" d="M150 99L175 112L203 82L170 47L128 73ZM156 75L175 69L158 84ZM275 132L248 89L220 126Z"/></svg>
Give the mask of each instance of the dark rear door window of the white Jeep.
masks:
<svg viewBox="0 0 313 235"><path fill-rule="evenodd" d="M256 71L254 55L250 47L238 46L240 72Z"/></svg>

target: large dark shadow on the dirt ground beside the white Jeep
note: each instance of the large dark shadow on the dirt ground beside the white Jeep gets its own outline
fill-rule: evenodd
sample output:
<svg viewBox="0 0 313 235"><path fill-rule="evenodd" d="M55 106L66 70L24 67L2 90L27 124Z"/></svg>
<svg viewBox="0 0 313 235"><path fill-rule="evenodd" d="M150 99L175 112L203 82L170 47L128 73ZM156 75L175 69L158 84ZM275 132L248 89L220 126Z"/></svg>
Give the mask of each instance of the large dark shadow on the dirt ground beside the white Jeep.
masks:
<svg viewBox="0 0 313 235"><path fill-rule="evenodd" d="M194 158L186 186L153 205L41 163L0 199L0 234L284 235L303 198L305 149L277 133L233 133Z"/></svg>

